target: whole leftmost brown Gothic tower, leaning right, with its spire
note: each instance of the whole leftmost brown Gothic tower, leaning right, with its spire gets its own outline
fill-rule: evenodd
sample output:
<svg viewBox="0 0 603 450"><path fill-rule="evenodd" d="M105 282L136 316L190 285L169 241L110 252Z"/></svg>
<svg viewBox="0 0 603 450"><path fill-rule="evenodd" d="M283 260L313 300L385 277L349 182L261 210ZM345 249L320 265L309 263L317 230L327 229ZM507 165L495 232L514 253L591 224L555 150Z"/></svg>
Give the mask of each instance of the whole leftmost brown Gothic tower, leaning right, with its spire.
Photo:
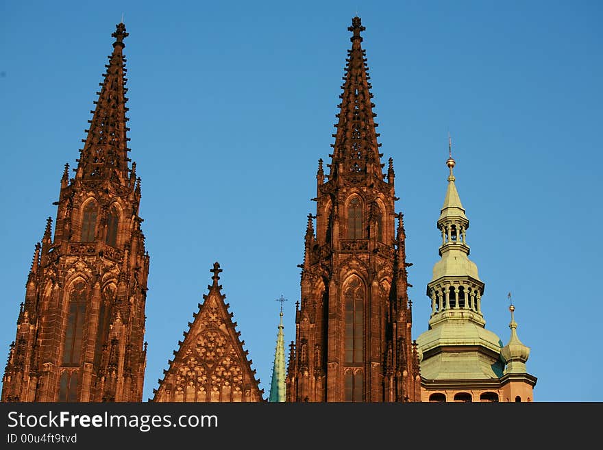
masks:
<svg viewBox="0 0 603 450"><path fill-rule="evenodd" d="M10 346L2 401L141 401L149 255L129 167L125 25L113 52L75 177L60 182L56 226L36 244Z"/></svg>

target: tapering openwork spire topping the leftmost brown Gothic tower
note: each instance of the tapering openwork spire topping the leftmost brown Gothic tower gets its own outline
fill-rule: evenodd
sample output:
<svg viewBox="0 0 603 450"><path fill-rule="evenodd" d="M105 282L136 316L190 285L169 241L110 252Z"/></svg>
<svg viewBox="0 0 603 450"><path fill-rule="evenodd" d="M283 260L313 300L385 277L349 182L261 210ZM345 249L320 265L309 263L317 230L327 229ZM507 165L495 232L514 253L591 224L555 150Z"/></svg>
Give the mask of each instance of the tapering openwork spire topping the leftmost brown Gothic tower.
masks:
<svg viewBox="0 0 603 450"><path fill-rule="evenodd" d="M128 36L125 25L116 25L116 31L111 35L115 38L113 42L113 53L110 55L107 71L96 108L93 113L90 128L86 130L88 136L82 139L84 149L80 151L76 177L84 179L112 179L117 178L121 182L127 180L127 131L128 121L125 113L127 98L125 93L125 58L123 39Z"/></svg>

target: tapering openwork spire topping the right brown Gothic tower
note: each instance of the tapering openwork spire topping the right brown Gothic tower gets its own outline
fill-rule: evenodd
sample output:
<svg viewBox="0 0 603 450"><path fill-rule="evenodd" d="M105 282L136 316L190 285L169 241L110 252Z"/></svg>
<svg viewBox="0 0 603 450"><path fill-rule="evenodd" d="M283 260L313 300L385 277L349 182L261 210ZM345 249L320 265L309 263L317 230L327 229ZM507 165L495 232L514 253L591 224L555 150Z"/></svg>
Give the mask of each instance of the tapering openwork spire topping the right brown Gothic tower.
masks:
<svg viewBox="0 0 603 450"><path fill-rule="evenodd" d="M333 153L330 166L329 179L338 175L375 175L383 179L375 128L377 123L373 112L375 104L371 102L371 84L369 83L368 66L366 64L365 50L362 50L360 32L365 30L360 22L360 17L352 18L352 49L347 51L344 84L341 86L343 93L339 96L341 103L336 117L339 123L335 125L336 134L333 134L335 143L332 145Z"/></svg>

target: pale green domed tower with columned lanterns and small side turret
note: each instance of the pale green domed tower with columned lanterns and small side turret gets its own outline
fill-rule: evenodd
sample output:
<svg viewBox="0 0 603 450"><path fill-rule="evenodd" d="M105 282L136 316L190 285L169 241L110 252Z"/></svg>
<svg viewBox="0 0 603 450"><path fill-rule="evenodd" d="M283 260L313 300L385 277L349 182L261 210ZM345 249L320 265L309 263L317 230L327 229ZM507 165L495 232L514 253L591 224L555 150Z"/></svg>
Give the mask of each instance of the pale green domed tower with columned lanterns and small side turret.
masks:
<svg viewBox="0 0 603 450"><path fill-rule="evenodd" d="M449 151L448 187L437 221L441 259L434 264L427 286L429 328L417 338L421 397L423 401L508 401L519 396L520 401L532 401L536 377L526 373L529 349L515 334L513 316L511 340L504 348L500 338L485 327L485 285L478 266L469 260L469 219L456 190L450 143Z"/></svg>

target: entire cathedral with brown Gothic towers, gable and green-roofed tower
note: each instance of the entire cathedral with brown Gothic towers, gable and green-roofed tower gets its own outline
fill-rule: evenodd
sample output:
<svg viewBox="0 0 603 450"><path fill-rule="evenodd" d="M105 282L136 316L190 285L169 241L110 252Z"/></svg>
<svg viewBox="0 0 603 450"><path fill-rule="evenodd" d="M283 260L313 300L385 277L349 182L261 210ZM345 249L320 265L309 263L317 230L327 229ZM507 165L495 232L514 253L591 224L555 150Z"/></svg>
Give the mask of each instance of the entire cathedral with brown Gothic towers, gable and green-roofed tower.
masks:
<svg viewBox="0 0 603 450"><path fill-rule="evenodd" d="M281 308L264 397L214 262L208 293L150 401L534 400L537 378L526 368L530 349L517 336L513 303L506 345L485 327L485 284L469 260L469 219L456 190L452 145L436 222L440 259L426 286L431 315L426 331L412 339L411 264L404 215L395 209L393 158L384 162L380 153L365 27L356 16L348 30L352 46L334 144L329 163L318 160L316 211L307 218L288 361ZM140 177L127 147L127 36L125 25L116 25L77 167L70 177L65 164L54 227L49 217L35 245L1 401L143 401L149 254L138 215Z"/></svg>

